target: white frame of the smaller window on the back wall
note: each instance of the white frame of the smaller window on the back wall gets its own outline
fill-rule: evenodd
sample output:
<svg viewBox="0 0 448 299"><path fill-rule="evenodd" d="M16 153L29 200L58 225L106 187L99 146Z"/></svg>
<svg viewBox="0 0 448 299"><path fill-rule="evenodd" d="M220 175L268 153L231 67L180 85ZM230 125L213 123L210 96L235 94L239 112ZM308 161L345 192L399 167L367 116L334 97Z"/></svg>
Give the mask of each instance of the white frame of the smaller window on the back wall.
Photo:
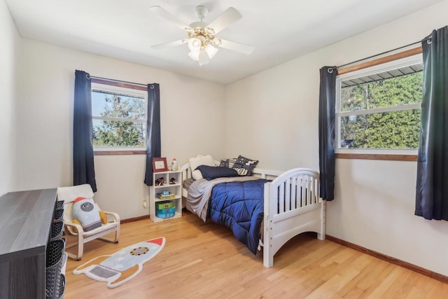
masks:
<svg viewBox="0 0 448 299"><path fill-rule="evenodd" d="M148 120L148 92L144 90L137 90L133 88L123 88L113 85L106 85L101 83L92 83L91 91L100 90L105 92L111 92L119 95L130 95L134 97L144 97L145 99L145 118L144 120L136 120L130 118L110 118L110 117L102 117L102 116L93 116L92 120L118 120L132 123L147 123ZM93 113L93 112L92 112ZM146 137L144 139L144 146L93 146L94 151L146 151Z"/></svg>

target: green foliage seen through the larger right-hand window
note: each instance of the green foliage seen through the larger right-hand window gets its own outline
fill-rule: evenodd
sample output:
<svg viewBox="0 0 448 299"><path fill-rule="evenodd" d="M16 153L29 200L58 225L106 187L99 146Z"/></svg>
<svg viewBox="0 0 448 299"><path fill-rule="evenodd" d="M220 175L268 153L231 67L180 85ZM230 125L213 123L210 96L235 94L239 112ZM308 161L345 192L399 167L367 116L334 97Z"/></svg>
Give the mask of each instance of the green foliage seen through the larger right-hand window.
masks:
<svg viewBox="0 0 448 299"><path fill-rule="evenodd" d="M362 111L421 102L423 73L341 88L341 111ZM344 116L341 147L417 148L420 109Z"/></svg>

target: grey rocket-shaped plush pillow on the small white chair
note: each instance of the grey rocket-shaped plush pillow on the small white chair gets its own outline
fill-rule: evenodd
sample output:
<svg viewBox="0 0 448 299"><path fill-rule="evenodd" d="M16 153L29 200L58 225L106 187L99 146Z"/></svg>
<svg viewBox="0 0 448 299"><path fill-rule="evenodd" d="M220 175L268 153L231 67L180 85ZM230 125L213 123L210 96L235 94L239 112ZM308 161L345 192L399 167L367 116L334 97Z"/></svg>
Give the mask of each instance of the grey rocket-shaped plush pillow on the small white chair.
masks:
<svg viewBox="0 0 448 299"><path fill-rule="evenodd" d="M99 210L92 198L76 198L73 202L71 211L73 213L73 218L79 221L85 232L93 230L94 228L99 228L102 225L101 218L99 217Z"/></svg>

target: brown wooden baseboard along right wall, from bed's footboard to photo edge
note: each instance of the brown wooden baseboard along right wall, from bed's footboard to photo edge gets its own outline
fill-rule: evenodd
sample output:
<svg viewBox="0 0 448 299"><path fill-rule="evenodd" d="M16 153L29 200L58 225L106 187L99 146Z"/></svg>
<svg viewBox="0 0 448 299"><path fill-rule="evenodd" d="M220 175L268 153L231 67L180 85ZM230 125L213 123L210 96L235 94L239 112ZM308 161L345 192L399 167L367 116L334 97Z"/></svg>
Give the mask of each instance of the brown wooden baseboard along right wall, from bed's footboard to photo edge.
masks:
<svg viewBox="0 0 448 299"><path fill-rule="evenodd" d="M353 243L350 243L350 242L346 242L343 239L338 239L337 237L332 237L330 235L325 235L325 238L330 240L330 241L332 241L332 242L335 242L335 243L338 243L338 244L342 244L342 245L344 245L346 247L349 247L351 249L355 249L357 251L360 251L360 252L363 252L365 254L368 254L369 256L374 256L375 258L379 258L380 260L386 260L386 262L393 263L395 265L399 265L400 267L405 267L405 268L407 268L409 270L412 270L412 271L415 271L415 272L419 272L420 274L426 275L426 276L431 277L433 279L437 279L438 281L442 281L445 284L448 284L448 276L445 276L445 275L442 275L442 274L430 271L428 269L425 269L423 267L419 267L417 265L413 265L411 263L407 263L407 262L405 262L403 260L399 260L398 258L393 258L391 256L386 256L386 254L379 253L377 251L373 251L373 250L367 249L367 248L365 248L363 246L359 246L359 245L356 245L356 244L353 244Z"/></svg>

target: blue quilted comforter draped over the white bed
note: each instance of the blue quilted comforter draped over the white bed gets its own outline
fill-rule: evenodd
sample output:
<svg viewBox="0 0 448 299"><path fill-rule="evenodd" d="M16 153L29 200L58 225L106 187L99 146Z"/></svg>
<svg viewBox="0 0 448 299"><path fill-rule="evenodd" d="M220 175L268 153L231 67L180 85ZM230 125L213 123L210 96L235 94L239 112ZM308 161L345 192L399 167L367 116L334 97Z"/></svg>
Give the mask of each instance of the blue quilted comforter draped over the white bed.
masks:
<svg viewBox="0 0 448 299"><path fill-rule="evenodd" d="M240 242L257 253L263 218L265 179L233 181L214 186L209 201L209 217L228 226Z"/></svg>

